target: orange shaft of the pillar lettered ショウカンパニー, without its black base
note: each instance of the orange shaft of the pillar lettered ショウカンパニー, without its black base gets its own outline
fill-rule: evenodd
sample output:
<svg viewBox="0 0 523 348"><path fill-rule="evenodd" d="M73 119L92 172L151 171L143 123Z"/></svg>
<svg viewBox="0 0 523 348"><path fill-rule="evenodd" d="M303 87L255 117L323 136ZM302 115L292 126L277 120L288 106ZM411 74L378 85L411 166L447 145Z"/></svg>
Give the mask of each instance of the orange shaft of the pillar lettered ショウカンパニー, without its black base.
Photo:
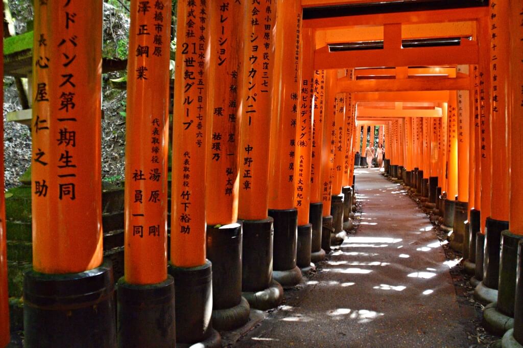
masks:
<svg viewBox="0 0 523 348"><path fill-rule="evenodd" d="M269 144L276 3L244 2L243 108L240 138L240 198L238 217L267 217Z"/></svg>

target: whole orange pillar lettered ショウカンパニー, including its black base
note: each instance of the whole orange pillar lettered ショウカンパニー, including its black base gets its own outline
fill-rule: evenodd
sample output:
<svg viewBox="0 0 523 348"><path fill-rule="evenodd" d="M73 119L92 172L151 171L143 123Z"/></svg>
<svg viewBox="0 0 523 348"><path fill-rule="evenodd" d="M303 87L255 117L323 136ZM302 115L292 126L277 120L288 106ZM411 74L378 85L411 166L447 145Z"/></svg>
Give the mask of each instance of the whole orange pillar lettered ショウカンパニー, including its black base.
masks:
<svg viewBox="0 0 523 348"><path fill-rule="evenodd" d="M240 197L238 218L243 222L242 290L251 307L269 309L283 299L283 289L272 279L272 228L269 208L269 151L276 4L268 13L244 2L243 76L240 137ZM238 100L238 103L240 100ZM238 134L237 134L238 136ZM263 294L258 296L257 294Z"/></svg>

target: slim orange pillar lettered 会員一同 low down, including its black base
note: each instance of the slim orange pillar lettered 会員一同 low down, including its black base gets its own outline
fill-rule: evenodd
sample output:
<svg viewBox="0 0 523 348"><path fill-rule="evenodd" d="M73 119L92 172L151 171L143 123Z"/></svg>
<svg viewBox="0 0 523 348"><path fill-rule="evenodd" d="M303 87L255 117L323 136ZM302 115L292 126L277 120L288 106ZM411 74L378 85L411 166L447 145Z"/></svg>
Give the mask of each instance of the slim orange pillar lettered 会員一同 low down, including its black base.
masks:
<svg viewBox="0 0 523 348"><path fill-rule="evenodd" d="M336 134L336 71L327 70L325 74L325 119L323 124L321 193L323 202L322 248L331 250L331 232L334 232L334 221L331 215L332 181L334 163L334 143Z"/></svg>

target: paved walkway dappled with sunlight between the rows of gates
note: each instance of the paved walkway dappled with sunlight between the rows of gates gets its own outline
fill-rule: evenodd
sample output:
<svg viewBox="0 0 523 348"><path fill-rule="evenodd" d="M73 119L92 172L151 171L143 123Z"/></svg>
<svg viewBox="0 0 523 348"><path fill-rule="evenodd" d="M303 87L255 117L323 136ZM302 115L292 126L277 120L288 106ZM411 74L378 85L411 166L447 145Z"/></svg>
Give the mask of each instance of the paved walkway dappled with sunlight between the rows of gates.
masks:
<svg viewBox="0 0 523 348"><path fill-rule="evenodd" d="M356 235L286 304L235 345L252 347L468 347L444 251L403 188L357 170ZM450 265L451 266L451 265Z"/></svg>

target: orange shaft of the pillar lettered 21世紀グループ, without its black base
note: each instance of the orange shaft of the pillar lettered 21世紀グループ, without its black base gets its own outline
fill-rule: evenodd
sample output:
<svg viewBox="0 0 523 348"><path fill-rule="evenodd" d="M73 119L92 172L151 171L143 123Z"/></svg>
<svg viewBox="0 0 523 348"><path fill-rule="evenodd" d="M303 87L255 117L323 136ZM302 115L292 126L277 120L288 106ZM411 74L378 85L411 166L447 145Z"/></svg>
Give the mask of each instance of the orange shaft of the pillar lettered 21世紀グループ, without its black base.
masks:
<svg viewBox="0 0 523 348"><path fill-rule="evenodd" d="M205 262L208 1L180 0L173 117L171 261Z"/></svg>

